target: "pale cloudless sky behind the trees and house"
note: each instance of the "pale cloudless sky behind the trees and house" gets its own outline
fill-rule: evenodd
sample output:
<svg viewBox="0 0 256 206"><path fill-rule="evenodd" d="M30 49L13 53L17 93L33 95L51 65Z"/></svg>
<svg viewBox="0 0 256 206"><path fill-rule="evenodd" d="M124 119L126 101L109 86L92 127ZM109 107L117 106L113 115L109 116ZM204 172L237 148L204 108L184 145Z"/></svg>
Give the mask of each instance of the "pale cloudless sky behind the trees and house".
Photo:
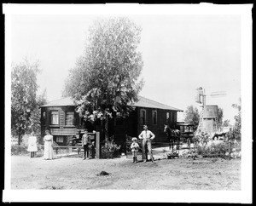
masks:
<svg viewBox="0 0 256 206"><path fill-rule="evenodd" d="M218 105L234 123L241 96L241 18L239 15L126 15L141 26L145 84L140 95L186 110L196 90L205 89L207 105ZM39 60L38 94L61 98L68 71L83 53L89 26L98 15L16 14L11 20L11 60ZM104 16L107 18L108 16ZM212 98L212 92L225 96ZM183 120L183 113L178 114Z"/></svg>

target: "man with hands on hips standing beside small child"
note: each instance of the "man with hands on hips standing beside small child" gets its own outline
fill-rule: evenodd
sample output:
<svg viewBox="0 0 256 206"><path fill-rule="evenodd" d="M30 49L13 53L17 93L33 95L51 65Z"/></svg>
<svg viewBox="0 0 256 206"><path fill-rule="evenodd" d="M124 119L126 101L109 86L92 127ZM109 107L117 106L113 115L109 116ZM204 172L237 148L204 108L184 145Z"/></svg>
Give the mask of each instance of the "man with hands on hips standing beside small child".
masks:
<svg viewBox="0 0 256 206"><path fill-rule="evenodd" d="M152 163L154 163L154 157L152 155L152 148L151 148L151 140L154 139L154 134L148 130L148 126L143 126L143 131L141 134L139 134L138 138L143 140L143 162L146 163L148 161L148 153L150 155ZM148 152L146 150L146 146L148 149Z"/></svg>

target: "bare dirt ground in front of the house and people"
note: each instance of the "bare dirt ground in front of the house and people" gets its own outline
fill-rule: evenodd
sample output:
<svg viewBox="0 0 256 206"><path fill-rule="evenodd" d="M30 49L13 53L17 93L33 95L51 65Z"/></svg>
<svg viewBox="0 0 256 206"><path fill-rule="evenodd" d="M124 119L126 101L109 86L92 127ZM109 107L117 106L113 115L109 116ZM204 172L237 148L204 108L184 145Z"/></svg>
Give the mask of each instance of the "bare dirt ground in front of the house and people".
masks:
<svg viewBox="0 0 256 206"><path fill-rule="evenodd" d="M241 190L241 160L11 157L11 189ZM102 171L109 175L99 175Z"/></svg>

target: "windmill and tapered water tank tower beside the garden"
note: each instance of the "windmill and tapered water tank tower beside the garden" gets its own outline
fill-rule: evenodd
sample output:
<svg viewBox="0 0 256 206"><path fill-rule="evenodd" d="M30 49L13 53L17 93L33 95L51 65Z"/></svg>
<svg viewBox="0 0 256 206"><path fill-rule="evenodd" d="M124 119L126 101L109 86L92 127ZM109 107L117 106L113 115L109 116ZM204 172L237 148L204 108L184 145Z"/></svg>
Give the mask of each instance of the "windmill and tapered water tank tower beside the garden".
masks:
<svg viewBox="0 0 256 206"><path fill-rule="evenodd" d="M201 131L207 132L208 134L215 133L218 131L218 106L217 105L207 105L207 96L211 97L221 97L226 95L224 91L212 92L212 94L206 94L205 89L201 87L196 89L197 94L195 96L195 102L201 104L202 110L200 114L199 125L196 130L196 134Z"/></svg>

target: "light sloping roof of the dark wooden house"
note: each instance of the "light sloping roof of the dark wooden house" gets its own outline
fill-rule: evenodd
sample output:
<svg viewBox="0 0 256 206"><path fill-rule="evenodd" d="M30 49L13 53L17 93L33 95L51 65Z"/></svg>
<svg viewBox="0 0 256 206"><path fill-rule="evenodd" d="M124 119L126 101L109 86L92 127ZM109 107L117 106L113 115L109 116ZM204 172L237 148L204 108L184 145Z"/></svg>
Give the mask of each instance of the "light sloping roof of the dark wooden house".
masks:
<svg viewBox="0 0 256 206"><path fill-rule="evenodd" d="M183 112L183 110L181 109L177 109L172 106L167 106L167 105L161 104L160 102L149 100L142 96L138 96L138 101L135 102L134 104L128 104L128 105ZM48 104L40 107L48 107L48 106L74 106L74 102L70 97L65 97L59 100L49 101Z"/></svg>

